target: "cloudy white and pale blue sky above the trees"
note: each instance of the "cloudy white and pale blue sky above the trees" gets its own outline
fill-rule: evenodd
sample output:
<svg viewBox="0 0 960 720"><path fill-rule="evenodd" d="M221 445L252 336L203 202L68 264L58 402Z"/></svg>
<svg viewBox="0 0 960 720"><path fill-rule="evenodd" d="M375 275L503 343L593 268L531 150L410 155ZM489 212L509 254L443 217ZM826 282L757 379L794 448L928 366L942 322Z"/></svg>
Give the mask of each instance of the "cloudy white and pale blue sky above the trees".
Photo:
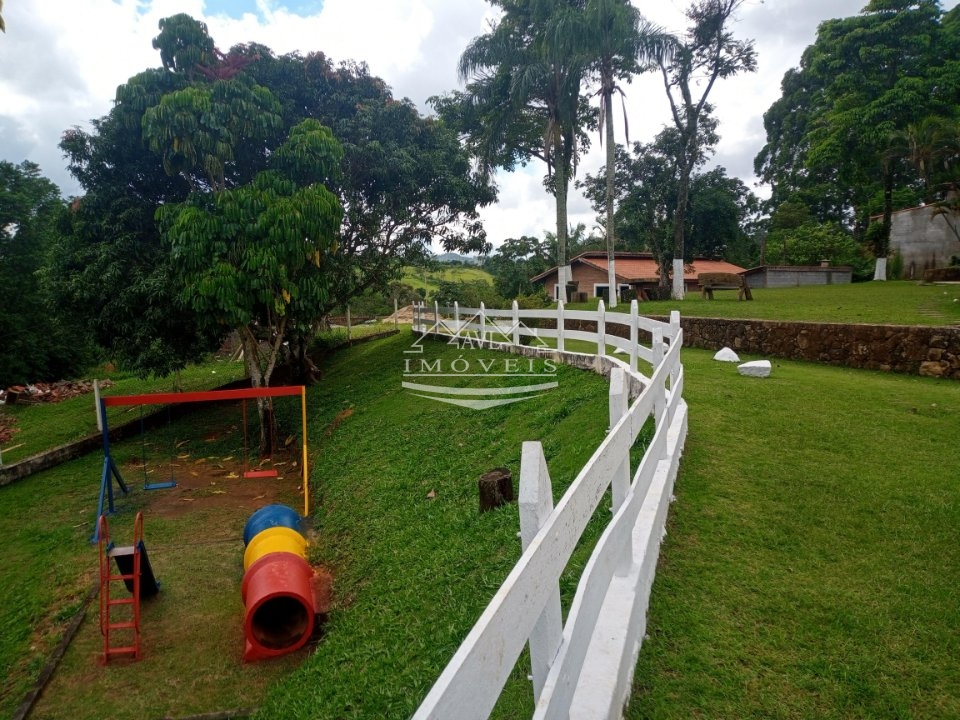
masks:
<svg viewBox="0 0 960 720"><path fill-rule="evenodd" d="M763 113L780 95L780 80L828 18L858 13L867 0L747 0L736 22L753 38L759 71L719 82L711 93L721 141L714 163L753 184L753 158L764 143ZM960 0L945 0L944 9ZM688 0L634 0L665 29L684 28ZM88 127L109 112L116 88L160 65L151 40L161 18L185 12L207 23L223 50L256 41L277 54L322 50L334 60L364 61L423 112L426 99L459 87L460 53L493 17L484 0L6 0L7 32L0 35L0 160L32 160L65 196L81 194L57 147L61 133ZM659 75L626 88L632 141L649 141L669 122ZM620 117L619 111L616 116ZM619 123L619 119L618 119ZM617 137L622 142L618 124ZM580 176L602 166L599 143ZM484 212L495 244L555 230L552 198L542 189L544 168L532 164L501 175L500 201ZM764 189L756 191L763 194ZM595 225L596 213L576 191L571 223Z"/></svg>

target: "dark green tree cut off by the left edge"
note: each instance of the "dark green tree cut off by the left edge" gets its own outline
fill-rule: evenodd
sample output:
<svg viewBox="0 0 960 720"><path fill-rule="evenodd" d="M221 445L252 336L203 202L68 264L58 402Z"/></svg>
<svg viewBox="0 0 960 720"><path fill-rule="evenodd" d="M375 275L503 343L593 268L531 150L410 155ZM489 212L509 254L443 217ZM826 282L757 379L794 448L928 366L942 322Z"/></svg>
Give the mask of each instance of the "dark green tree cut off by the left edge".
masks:
<svg viewBox="0 0 960 720"><path fill-rule="evenodd" d="M69 377L90 359L42 282L63 205L37 165L0 161L0 387Z"/></svg>

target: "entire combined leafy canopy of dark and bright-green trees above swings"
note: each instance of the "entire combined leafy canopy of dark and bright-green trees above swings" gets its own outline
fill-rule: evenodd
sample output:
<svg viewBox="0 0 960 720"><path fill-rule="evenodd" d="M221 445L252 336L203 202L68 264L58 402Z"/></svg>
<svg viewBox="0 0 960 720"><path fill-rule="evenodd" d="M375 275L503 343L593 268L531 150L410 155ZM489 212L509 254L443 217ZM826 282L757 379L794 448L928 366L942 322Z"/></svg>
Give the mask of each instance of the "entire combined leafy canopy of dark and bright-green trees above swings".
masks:
<svg viewBox="0 0 960 720"><path fill-rule="evenodd" d="M302 347L322 315L386 287L431 242L485 248L489 182L455 132L365 65L255 43L223 53L182 14L154 47L162 67L61 143L85 194L58 297L123 364L166 374L240 322Z"/></svg>

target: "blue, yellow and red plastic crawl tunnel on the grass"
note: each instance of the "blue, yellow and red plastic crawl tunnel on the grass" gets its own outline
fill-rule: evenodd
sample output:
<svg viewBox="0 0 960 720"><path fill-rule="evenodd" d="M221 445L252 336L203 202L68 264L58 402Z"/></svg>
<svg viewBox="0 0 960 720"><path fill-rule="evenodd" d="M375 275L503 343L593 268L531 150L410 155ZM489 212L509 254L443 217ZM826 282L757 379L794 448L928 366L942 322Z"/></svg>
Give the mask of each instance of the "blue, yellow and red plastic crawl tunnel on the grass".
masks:
<svg viewBox="0 0 960 720"><path fill-rule="evenodd" d="M262 507L247 520L243 540L244 662L300 649L317 614L300 516L285 505Z"/></svg>

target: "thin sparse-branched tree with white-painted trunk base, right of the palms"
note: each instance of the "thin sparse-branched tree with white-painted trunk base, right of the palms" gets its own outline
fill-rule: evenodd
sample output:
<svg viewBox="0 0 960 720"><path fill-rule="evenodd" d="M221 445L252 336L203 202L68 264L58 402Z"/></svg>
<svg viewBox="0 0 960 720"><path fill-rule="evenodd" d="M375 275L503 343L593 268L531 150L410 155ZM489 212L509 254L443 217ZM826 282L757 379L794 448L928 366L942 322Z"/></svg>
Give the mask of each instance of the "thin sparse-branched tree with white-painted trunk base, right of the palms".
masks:
<svg viewBox="0 0 960 720"><path fill-rule="evenodd" d="M737 40L730 30L733 15L744 0L695 0L685 11L690 22L676 38L669 59L660 62L674 128L680 138L677 164L676 221L673 226L673 295L683 298L683 262L690 177L702 153L700 117L717 80L757 67L752 40Z"/></svg>

